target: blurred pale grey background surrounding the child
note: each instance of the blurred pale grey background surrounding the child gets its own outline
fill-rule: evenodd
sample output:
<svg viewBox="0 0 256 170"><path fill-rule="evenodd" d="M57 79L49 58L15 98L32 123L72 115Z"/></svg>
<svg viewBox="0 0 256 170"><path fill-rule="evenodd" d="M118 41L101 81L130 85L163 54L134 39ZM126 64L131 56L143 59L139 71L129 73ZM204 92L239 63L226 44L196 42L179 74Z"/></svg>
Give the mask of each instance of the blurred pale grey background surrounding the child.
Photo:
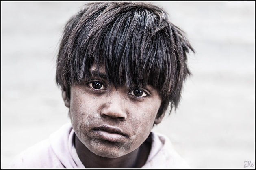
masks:
<svg viewBox="0 0 256 170"><path fill-rule="evenodd" d="M68 122L55 84L65 22L86 2L1 1L1 168ZM152 2L196 50L179 108L153 131L191 168L255 168L255 2Z"/></svg>

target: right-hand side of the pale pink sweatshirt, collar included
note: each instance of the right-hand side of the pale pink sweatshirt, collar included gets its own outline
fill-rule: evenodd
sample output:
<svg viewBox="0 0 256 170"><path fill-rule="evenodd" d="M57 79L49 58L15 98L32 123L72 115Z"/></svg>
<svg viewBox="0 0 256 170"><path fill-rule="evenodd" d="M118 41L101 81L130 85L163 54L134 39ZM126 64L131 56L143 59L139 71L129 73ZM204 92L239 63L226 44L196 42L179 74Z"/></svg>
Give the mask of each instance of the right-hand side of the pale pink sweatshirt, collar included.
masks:
<svg viewBox="0 0 256 170"><path fill-rule="evenodd" d="M169 138L152 133L152 145L146 164L142 168L190 168L176 152Z"/></svg>

